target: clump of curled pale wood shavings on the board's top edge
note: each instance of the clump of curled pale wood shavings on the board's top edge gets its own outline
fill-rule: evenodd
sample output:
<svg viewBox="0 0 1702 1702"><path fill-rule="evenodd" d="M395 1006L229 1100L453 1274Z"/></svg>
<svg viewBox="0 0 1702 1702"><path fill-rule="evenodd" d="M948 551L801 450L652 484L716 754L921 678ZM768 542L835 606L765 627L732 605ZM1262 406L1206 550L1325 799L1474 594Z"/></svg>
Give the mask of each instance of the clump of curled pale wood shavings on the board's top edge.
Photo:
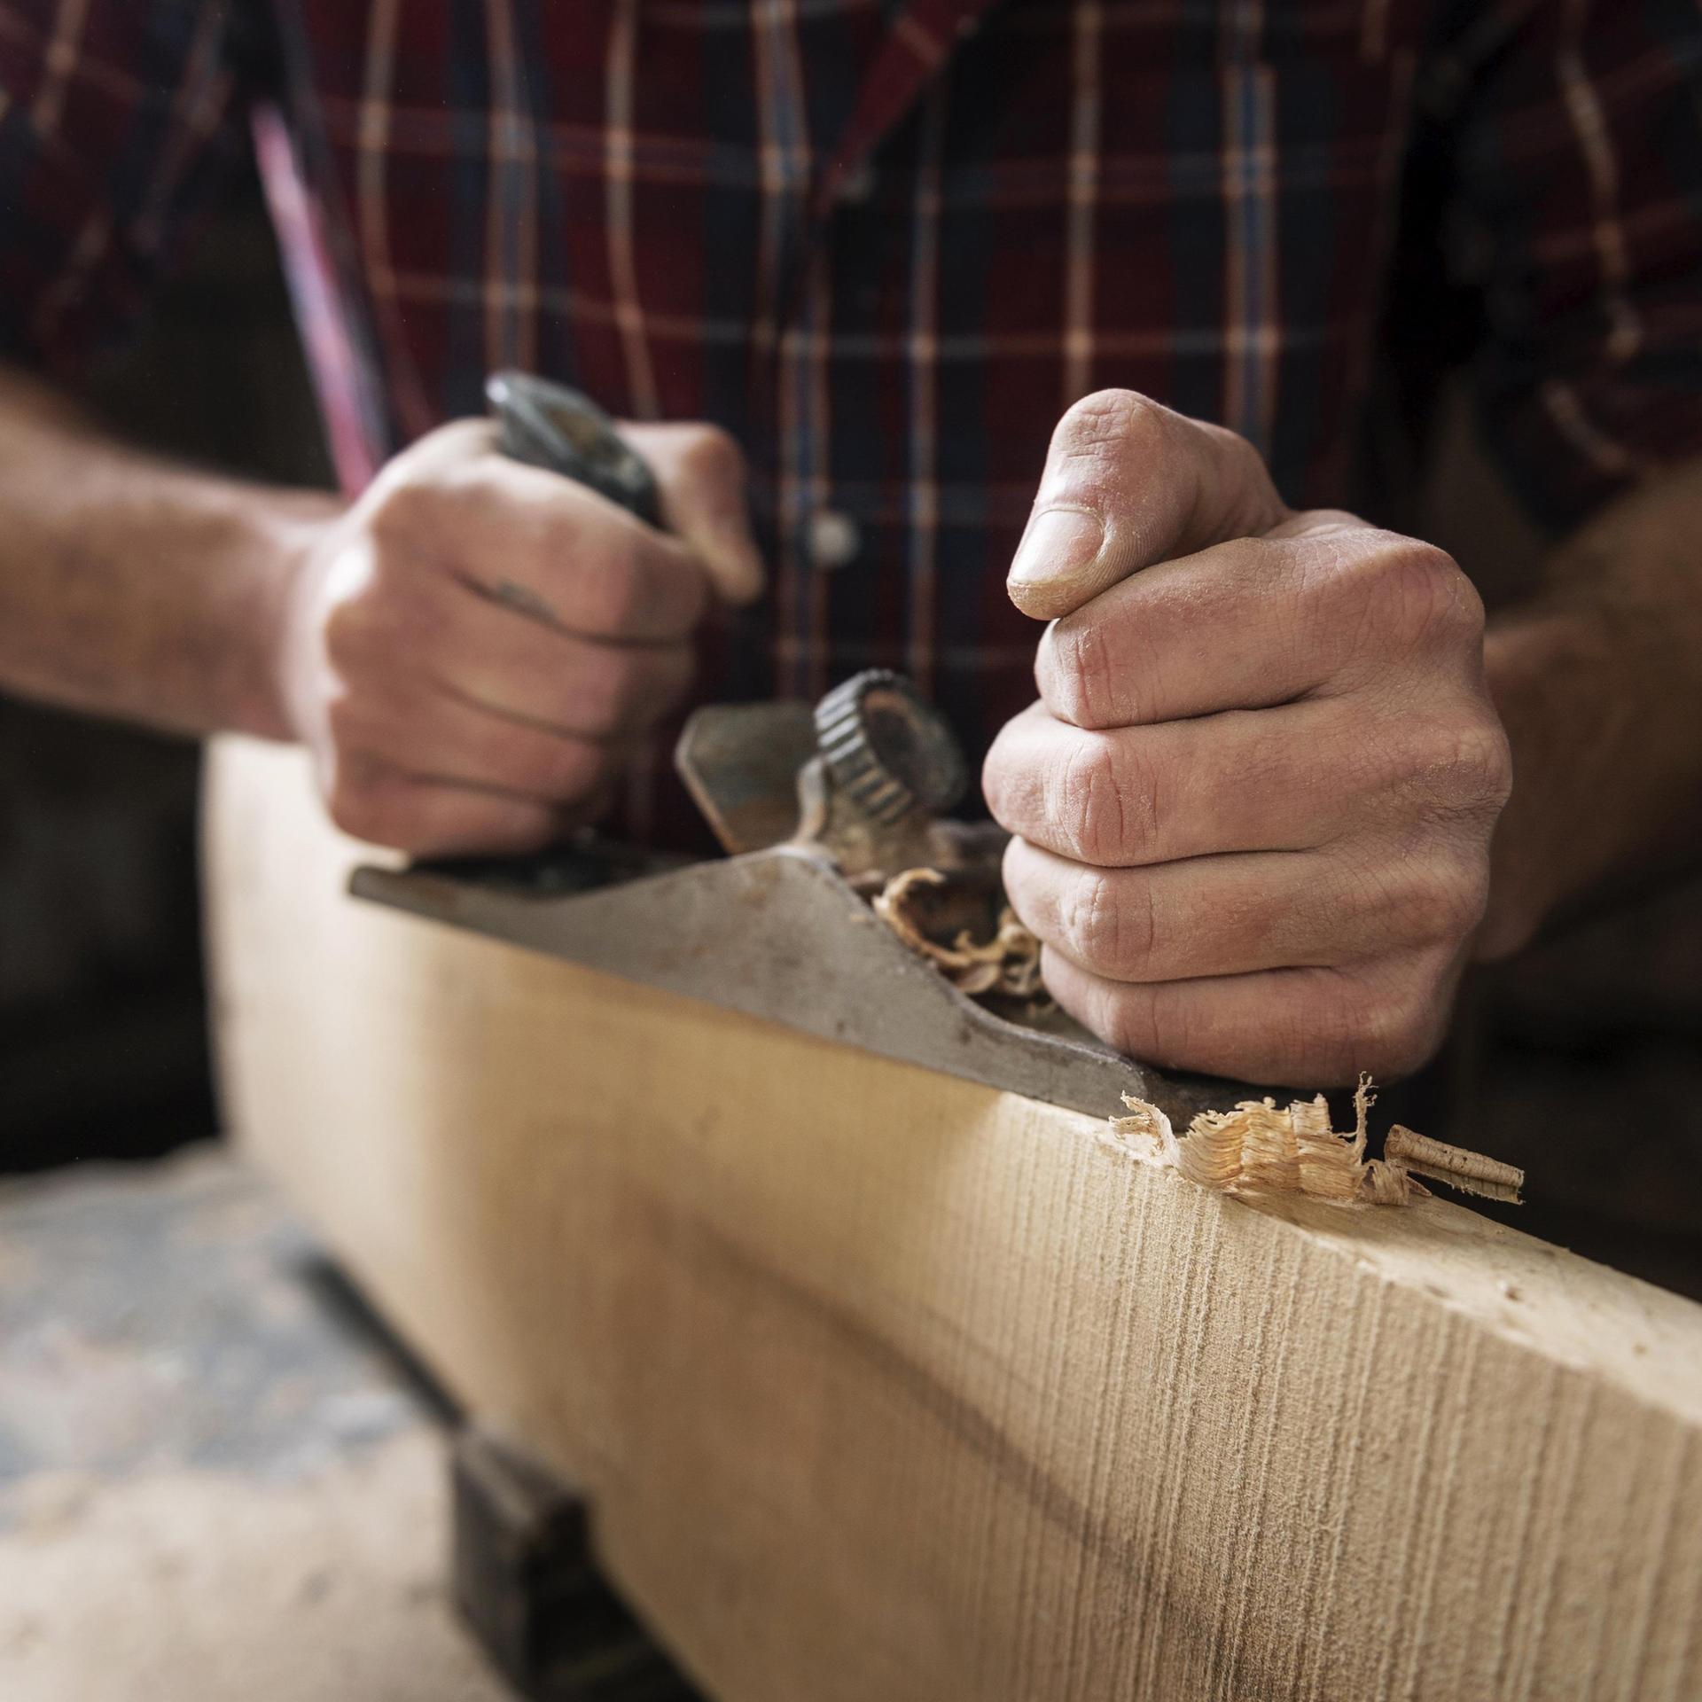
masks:
<svg viewBox="0 0 1702 1702"><path fill-rule="evenodd" d="M1511 1164L1450 1147L1396 1123L1382 1159L1365 1157L1365 1115L1375 1101L1370 1076L1353 1091L1353 1132L1329 1125L1324 1096L1295 1099L1278 1110L1275 1099L1242 1099L1232 1111L1200 1111L1188 1134L1176 1137L1171 1120L1145 1099L1123 1094L1127 1117L1113 1117L1120 1135L1154 1140L1162 1157L1188 1181L1217 1193L1304 1193L1314 1200L1406 1205L1430 1190L1428 1176L1464 1193L1518 1203L1525 1173Z"/></svg>

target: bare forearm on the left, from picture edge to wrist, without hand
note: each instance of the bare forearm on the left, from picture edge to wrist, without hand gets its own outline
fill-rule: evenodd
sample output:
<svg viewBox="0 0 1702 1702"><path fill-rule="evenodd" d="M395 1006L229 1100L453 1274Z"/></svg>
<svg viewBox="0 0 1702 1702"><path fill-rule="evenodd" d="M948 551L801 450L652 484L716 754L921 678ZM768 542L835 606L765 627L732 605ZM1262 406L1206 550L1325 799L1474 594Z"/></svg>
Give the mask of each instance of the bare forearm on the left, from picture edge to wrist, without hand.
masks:
<svg viewBox="0 0 1702 1702"><path fill-rule="evenodd" d="M283 603L337 507L140 454L0 368L0 691L288 737Z"/></svg>

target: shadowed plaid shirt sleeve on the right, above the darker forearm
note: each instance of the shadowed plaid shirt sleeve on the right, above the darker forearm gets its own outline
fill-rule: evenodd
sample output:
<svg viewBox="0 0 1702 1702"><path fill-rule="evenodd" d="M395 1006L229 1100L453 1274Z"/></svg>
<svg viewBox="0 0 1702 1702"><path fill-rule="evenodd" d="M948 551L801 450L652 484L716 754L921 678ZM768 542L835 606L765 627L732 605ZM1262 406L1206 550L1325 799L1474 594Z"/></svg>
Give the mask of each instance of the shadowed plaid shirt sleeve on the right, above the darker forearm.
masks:
<svg viewBox="0 0 1702 1702"><path fill-rule="evenodd" d="M1450 111L1479 419L1559 529L1702 453L1702 10L1472 0L1460 17L1426 104Z"/></svg>

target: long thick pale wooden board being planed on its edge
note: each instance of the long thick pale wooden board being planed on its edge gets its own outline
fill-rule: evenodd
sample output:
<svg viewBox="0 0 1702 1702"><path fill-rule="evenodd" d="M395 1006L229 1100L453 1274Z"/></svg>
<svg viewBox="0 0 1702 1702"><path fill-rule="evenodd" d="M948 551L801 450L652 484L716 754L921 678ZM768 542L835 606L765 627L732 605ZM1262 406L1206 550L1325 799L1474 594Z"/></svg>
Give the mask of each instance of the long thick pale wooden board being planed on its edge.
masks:
<svg viewBox="0 0 1702 1702"><path fill-rule="evenodd" d="M211 778L231 1125L723 1702L1702 1697L1697 1305L356 905L293 752Z"/></svg>

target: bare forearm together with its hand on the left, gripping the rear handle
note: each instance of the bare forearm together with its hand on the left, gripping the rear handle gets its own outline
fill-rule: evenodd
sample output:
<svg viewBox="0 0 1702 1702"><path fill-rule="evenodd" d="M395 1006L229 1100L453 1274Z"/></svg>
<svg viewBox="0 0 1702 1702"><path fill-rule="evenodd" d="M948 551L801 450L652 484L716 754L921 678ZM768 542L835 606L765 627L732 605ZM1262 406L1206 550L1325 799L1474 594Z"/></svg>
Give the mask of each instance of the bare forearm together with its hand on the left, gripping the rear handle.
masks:
<svg viewBox="0 0 1702 1702"><path fill-rule="evenodd" d="M300 739L364 839L541 844L597 814L686 689L711 594L761 585L732 441L626 431L669 533L502 458L483 420L346 505L140 454L0 369L0 689Z"/></svg>

